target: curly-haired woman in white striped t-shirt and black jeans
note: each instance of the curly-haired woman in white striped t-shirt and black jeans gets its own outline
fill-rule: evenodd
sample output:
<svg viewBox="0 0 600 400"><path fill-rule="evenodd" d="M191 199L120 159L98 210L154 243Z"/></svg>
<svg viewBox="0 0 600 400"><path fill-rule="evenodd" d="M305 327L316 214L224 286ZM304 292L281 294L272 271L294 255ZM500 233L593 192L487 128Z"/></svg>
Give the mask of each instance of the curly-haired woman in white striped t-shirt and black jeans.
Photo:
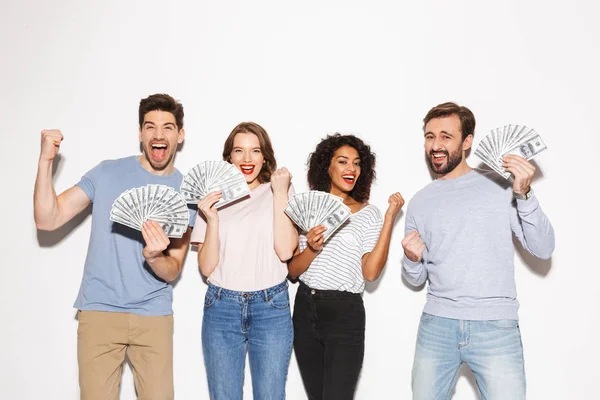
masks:
<svg viewBox="0 0 600 400"><path fill-rule="evenodd" d="M294 351L308 398L352 399L362 367L365 280L376 280L387 260L394 220L404 205L390 196L382 217L368 203L375 155L353 135L329 135L309 157L311 190L342 198L352 215L324 243L322 225L300 236L288 263L300 285L294 304Z"/></svg>

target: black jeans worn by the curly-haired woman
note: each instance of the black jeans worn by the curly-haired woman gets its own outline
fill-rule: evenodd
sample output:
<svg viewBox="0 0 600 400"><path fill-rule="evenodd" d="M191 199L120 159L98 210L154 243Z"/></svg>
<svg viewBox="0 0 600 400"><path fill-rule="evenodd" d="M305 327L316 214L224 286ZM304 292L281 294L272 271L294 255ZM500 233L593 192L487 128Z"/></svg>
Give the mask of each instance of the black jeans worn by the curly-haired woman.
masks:
<svg viewBox="0 0 600 400"><path fill-rule="evenodd" d="M294 352L308 398L353 399L365 354L362 296L300 282L293 320Z"/></svg>

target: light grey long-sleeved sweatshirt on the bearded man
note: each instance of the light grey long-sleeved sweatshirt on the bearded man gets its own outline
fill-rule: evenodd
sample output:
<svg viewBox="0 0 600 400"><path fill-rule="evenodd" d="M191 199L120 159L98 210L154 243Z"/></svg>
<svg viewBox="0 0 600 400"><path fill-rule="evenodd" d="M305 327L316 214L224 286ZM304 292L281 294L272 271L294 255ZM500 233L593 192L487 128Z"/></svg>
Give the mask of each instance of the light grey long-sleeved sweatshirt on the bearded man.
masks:
<svg viewBox="0 0 600 400"><path fill-rule="evenodd" d="M429 278L423 311L445 318L518 319L512 233L538 258L554 250L535 194L516 200L511 181L478 169L420 190L406 212L405 233L413 230L427 249L420 262L404 257L403 275L414 286Z"/></svg>

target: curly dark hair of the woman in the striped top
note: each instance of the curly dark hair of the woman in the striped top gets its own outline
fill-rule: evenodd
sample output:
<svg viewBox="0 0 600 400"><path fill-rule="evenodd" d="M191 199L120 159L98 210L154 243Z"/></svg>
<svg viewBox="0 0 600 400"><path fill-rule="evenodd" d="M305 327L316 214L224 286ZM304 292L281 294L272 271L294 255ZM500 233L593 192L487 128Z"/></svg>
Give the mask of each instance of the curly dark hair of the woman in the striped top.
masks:
<svg viewBox="0 0 600 400"><path fill-rule="evenodd" d="M308 156L308 186L311 190L331 190L329 166L333 154L342 146L355 148L360 157L360 176L349 195L354 200L364 203L369 200L371 184L375 179L375 154L365 142L354 135L335 133L321 140L315 151Z"/></svg>

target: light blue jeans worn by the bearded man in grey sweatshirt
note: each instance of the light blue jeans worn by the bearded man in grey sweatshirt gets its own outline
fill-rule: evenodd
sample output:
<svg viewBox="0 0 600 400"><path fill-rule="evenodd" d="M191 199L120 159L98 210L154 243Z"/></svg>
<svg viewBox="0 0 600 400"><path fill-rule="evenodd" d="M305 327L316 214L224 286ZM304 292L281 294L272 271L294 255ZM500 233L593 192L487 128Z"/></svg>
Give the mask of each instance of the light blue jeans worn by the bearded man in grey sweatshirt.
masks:
<svg viewBox="0 0 600 400"><path fill-rule="evenodd" d="M473 371L482 399L525 399L518 321L468 321L423 313L412 372L413 399L450 399L463 362Z"/></svg>

